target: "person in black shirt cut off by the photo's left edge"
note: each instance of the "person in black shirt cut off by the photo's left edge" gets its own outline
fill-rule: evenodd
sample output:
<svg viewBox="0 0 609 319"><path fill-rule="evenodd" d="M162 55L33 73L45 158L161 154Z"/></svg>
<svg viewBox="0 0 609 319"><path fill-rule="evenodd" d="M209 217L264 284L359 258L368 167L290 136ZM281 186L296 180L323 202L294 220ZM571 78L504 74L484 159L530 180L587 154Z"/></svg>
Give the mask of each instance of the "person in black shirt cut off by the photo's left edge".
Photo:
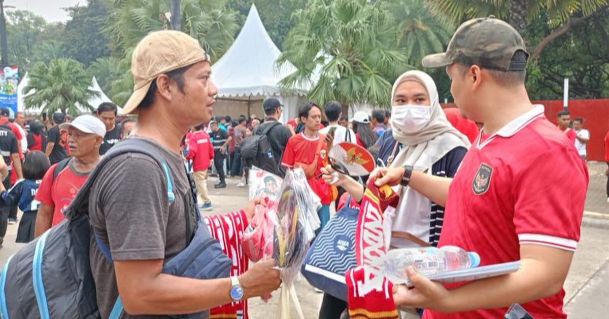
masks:
<svg viewBox="0 0 609 319"><path fill-rule="evenodd" d="M21 174L21 160L19 159L19 146L17 143L17 138L11 129L8 126L0 125L0 153L2 154L4 162L9 165L9 174L2 182L7 190L10 190L12 187L12 184L10 183L11 170L16 170L18 179L23 178L23 175ZM2 238L4 238L4 235L6 234L6 227L11 210L14 210L16 213L17 207L0 207L0 247L2 241L4 241Z"/></svg>

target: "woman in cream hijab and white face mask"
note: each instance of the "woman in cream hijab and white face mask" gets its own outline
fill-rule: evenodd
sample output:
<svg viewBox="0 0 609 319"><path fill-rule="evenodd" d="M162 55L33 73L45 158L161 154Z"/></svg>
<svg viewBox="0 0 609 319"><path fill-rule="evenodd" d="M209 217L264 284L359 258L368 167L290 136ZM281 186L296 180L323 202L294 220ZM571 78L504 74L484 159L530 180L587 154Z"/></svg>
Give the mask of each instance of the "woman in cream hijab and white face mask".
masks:
<svg viewBox="0 0 609 319"><path fill-rule="evenodd" d="M379 146L378 165L408 165L434 176L454 176L470 141L446 120L434 80L418 70L404 73L393 84L391 102L391 129L376 142ZM334 180L334 170L330 166L322 168L322 173L326 183ZM349 176L337 174L339 179L333 185L342 186L354 201L361 201L364 186ZM398 186L394 190L400 194L400 203L392 230L409 233L420 241L437 245L444 208L410 187ZM392 238L391 245L418 247L414 241L403 238ZM342 300L326 293L319 318L339 318L346 306Z"/></svg>

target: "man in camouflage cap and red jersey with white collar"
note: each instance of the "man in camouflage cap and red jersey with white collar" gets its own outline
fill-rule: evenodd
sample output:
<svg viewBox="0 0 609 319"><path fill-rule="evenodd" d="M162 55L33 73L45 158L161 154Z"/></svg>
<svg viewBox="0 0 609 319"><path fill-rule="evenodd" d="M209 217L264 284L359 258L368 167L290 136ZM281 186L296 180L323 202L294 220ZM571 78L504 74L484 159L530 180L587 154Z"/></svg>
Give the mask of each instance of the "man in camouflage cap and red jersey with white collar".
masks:
<svg viewBox="0 0 609 319"><path fill-rule="evenodd" d="M521 261L508 275L446 286L409 267L414 288L394 286L393 298L425 308L423 318L502 318L513 303L533 318L566 318L563 283L580 238L589 176L574 143L544 118L543 106L530 102L528 57L523 38L506 22L466 21L446 53L423 59L424 67L446 67L457 107L484 125L459 171L454 179L408 166L371 174L381 177L376 185L407 185L445 205L438 247L477 252L481 266Z"/></svg>

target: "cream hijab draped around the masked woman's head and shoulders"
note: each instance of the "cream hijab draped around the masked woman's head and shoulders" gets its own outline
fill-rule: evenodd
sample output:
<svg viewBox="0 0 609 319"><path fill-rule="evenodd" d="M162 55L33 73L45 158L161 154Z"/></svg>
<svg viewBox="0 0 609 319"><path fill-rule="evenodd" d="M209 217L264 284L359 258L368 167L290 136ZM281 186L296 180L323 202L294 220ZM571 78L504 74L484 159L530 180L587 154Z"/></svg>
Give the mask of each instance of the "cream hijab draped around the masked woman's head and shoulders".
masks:
<svg viewBox="0 0 609 319"><path fill-rule="evenodd" d="M396 89L404 81L417 81L423 84L429 96L431 120L421 131L414 133L406 133L400 128L392 127L393 138L404 146L393 159L390 167L411 165L415 170L424 171L430 169L452 149L459 146L470 148L471 143L467 137L446 120L446 115L438 101L438 90L428 74L412 70L400 75L393 84L392 104Z"/></svg>

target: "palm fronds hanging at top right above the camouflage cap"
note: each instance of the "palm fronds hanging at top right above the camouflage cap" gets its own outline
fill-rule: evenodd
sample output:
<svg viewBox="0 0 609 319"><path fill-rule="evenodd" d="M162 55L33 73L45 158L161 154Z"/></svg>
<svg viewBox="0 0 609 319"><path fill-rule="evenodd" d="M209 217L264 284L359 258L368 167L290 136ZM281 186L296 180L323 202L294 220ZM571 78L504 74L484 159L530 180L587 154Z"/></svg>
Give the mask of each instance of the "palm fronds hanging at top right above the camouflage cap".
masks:
<svg viewBox="0 0 609 319"><path fill-rule="evenodd" d="M609 6L609 0L426 0L431 12L448 24L458 25L465 19L490 14L507 20L526 38L526 28L533 19L547 12L554 30L541 39L531 51L537 60L544 47L558 36L582 24L585 19ZM528 41L527 41L528 42Z"/></svg>

